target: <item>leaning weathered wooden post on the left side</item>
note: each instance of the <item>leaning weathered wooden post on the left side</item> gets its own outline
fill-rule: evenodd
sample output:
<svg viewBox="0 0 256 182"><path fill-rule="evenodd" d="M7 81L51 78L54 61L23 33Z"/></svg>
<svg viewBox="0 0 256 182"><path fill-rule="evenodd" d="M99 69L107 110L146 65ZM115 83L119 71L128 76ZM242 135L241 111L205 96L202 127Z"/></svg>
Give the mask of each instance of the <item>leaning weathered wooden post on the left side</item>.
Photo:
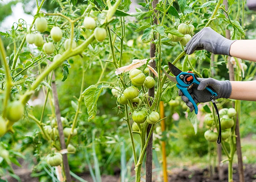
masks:
<svg viewBox="0 0 256 182"><path fill-rule="evenodd" d="M60 119L60 117L61 117L60 105L59 105L59 99L58 99L58 94L57 94L54 72L52 75L52 94L53 94L55 114L56 114L59 136L60 136L60 145L61 145L61 150L63 150L63 149L66 149L66 144L65 144L64 134L63 134L63 126L62 126L61 119ZM67 156L67 154L62 154L62 156L63 156L63 165L64 165L64 170L65 170L65 175L66 175L66 182L71 182L71 176L69 173L69 165L68 165L68 156Z"/></svg>

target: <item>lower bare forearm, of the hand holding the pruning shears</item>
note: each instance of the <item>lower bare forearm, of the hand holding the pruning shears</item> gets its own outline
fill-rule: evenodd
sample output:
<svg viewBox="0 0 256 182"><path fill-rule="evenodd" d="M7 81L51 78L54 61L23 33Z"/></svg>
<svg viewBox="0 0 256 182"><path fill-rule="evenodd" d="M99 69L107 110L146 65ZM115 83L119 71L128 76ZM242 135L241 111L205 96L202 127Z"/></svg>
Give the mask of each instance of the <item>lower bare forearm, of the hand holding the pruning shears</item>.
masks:
<svg viewBox="0 0 256 182"><path fill-rule="evenodd" d="M256 101L256 80L247 82L231 82L230 99Z"/></svg>

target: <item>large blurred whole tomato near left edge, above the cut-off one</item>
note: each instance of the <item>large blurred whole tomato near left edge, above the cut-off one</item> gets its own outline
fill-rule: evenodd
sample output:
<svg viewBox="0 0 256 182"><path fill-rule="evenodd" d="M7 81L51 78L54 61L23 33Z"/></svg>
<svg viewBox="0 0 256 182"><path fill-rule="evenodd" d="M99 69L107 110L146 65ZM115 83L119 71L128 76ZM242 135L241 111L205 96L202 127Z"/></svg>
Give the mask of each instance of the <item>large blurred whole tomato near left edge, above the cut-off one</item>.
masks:
<svg viewBox="0 0 256 182"><path fill-rule="evenodd" d="M23 116L24 105L20 101L11 102L7 106L6 118L11 122L17 122Z"/></svg>

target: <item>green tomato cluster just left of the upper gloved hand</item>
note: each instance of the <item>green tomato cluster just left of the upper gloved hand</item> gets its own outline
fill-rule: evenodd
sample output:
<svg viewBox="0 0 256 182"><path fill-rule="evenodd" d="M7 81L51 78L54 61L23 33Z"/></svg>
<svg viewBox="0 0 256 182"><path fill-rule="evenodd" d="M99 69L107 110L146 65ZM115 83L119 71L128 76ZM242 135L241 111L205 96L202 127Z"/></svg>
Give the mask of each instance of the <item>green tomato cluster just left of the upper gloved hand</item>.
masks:
<svg viewBox="0 0 256 182"><path fill-rule="evenodd" d="M186 46L189 40L191 40L191 34L193 34L195 27L192 24L181 23L178 25L178 32L182 33L184 36L179 37L177 35L172 35L168 33L169 39L174 42L180 42L181 46Z"/></svg>

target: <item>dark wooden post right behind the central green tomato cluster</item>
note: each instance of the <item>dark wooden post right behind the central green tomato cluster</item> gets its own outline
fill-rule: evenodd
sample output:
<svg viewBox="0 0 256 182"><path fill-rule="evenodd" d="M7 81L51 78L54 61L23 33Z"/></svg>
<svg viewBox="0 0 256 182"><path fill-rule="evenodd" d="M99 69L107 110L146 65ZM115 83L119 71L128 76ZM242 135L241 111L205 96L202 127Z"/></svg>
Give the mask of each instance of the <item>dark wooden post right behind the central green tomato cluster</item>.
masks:
<svg viewBox="0 0 256 182"><path fill-rule="evenodd" d="M152 6L153 8L157 7L158 0L153 0ZM157 10L155 10L157 12ZM154 24L157 24L157 19L154 20ZM155 57L155 44L150 44L150 58ZM150 63L150 66L155 69L155 60ZM149 71L149 74L151 76L155 77L154 74L152 74L151 71ZM160 73L159 73L160 76ZM154 98L155 95L155 88L148 89L148 96ZM152 103L150 102L150 105ZM149 134L149 131L152 127L152 124L148 124L147 128L147 137ZM146 149L146 182L152 182L152 147L153 147L153 134L150 136L150 141L148 142L147 149Z"/></svg>

